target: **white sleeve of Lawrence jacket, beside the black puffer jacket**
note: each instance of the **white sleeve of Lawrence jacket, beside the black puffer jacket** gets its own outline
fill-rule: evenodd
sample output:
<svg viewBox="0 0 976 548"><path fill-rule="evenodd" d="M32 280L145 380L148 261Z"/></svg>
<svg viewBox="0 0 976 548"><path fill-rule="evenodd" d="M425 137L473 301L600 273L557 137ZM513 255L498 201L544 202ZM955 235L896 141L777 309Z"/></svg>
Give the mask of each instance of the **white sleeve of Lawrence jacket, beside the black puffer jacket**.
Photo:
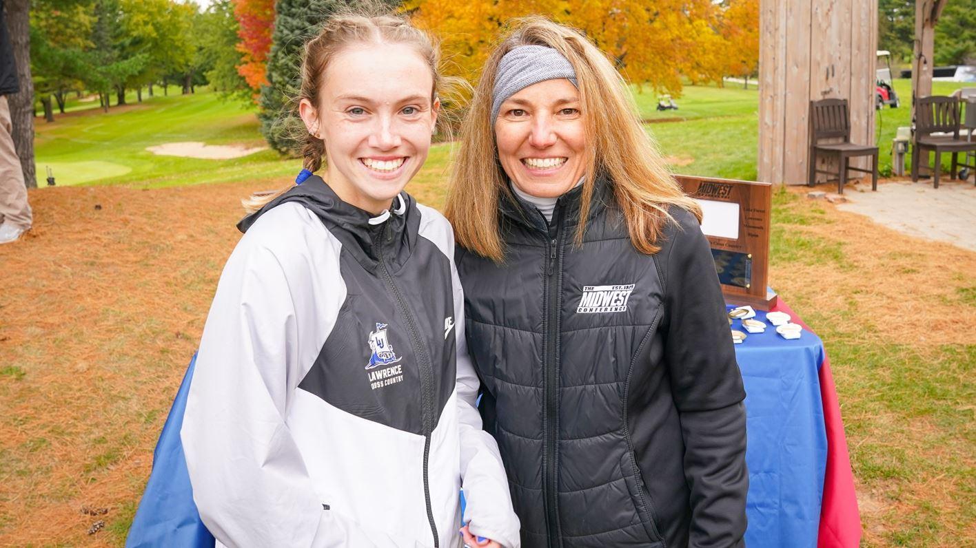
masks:
<svg viewBox="0 0 976 548"><path fill-rule="evenodd" d="M453 256L453 254L452 254ZM507 548L519 548L519 522L511 506L508 478L498 444L481 425L477 410L481 383L468 357L465 338L465 295L452 260L455 335L458 346L458 424L461 429L461 479L465 491L465 520L471 534Z"/></svg>

